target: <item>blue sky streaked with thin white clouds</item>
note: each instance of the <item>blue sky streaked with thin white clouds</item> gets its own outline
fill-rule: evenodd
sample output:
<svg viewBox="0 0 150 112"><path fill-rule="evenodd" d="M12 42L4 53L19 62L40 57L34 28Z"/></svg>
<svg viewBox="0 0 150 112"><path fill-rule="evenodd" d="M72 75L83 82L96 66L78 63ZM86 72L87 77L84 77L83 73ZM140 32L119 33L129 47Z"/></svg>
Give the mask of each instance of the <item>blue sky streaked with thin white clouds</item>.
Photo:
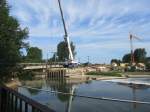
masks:
<svg viewBox="0 0 150 112"><path fill-rule="evenodd" d="M22 28L28 27L30 46L51 57L63 41L63 25L57 0L7 0L10 14ZM130 52L129 32L135 48L145 48L150 56L150 0L61 0L76 59L110 63Z"/></svg>

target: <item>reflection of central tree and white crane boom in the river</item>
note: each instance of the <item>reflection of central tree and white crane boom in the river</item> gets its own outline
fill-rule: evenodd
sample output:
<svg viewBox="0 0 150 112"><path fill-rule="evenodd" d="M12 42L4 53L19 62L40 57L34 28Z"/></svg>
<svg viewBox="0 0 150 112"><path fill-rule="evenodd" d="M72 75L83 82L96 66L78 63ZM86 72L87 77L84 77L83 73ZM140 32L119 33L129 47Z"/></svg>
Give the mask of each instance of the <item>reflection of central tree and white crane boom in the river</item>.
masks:
<svg viewBox="0 0 150 112"><path fill-rule="evenodd" d="M62 79L48 78L46 80L47 88L50 88L51 91L59 91L59 92L70 93L70 94L75 94L76 87L80 83L81 81L79 80L75 81L75 80L70 80L68 78L62 78ZM60 93L57 93L56 95L60 101L67 103L65 112L71 112L71 105L74 96L68 94L64 95Z"/></svg>

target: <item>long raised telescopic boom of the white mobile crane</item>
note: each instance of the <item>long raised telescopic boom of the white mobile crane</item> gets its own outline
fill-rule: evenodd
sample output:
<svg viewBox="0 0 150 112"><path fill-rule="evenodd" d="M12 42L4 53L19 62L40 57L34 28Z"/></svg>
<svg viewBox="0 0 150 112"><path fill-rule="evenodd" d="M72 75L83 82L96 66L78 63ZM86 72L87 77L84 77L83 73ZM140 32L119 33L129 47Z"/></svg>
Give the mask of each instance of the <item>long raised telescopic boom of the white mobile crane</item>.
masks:
<svg viewBox="0 0 150 112"><path fill-rule="evenodd" d="M64 39L65 39L65 42L67 42L67 47L68 47L68 50L69 50L69 60L71 62L73 62L74 61L74 57L73 57L73 53L72 53L71 46L70 46L70 40L69 40L69 37L68 37L68 33L67 33L67 29L66 29L66 24L65 24L65 20L64 20L64 16L63 16L63 10L62 10L62 7L61 7L60 0L58 0L58 4L59 4L59 9L60 9L60 13L61 13L61 19L62 19L64 32L65 32Z"/></svg>

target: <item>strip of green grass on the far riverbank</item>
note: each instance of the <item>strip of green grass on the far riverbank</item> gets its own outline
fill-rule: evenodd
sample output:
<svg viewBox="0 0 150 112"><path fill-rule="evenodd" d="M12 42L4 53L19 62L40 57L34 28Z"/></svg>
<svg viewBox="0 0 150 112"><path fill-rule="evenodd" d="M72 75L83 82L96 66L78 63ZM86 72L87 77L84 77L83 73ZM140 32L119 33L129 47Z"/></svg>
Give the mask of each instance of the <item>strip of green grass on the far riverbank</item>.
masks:
<svg viewBox="0 0 150 112"><path fill-rule="evenodd" d="M88 72L86 75L101 75L101 76L116 76L116 77L121 77L120 72Z"/></svg>

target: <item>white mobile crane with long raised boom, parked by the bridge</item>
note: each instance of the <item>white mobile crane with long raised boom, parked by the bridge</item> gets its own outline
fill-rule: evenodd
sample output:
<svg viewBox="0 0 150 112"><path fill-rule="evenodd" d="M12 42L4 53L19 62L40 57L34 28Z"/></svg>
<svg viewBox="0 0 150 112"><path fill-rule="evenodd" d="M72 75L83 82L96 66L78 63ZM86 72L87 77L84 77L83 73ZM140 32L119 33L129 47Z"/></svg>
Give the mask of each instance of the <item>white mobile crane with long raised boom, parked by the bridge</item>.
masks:
<svg viewBox="0 0 150 112"><path fill-rule="evenodd" d="M62 7L61 7L60 0L58 0L58 4L59 4L61 19L62 19L62 23L63 23L63 27L64 27L64 33L65 33L64 40L67 43L67 47L68 47L68 51L69 51L69 60L66 63L66 65L67 66L75 66L75 65L78 64L78 62L75 61L75 59L73 57L73 53L72 53L71 46L70 46L70 40L69 40L68 32L67 32L67 29L66 29L66 24L65 24L65 20L64 20L64 16L63 16L63 10L62 10Z"/></svg>

